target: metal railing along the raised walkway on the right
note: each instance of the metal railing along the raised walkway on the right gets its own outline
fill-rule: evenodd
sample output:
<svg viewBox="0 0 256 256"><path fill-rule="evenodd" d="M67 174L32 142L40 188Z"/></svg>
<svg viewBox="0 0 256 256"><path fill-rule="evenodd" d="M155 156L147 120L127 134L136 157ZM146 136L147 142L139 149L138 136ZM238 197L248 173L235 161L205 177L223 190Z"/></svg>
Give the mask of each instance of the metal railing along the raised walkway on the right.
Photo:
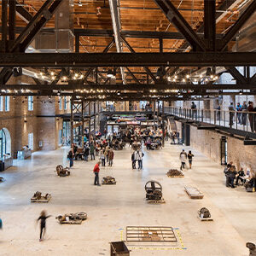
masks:
<svg viewBox="0 0 256 256"><path fill-rule="evenodd" d="M246 109L244 111L230 111L166 107L165 113L211 125L256 132L256 112L248 112Z"/></svg>

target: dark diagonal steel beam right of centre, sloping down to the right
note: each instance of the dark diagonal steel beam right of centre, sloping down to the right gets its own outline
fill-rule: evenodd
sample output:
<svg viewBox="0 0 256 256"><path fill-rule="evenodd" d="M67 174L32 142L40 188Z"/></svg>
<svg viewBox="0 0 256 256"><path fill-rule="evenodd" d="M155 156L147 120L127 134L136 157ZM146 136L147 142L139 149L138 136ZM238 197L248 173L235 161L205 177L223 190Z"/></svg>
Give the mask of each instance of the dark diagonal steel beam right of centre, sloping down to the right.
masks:
<svg viewBox="0 0 256 256"><path fill-rule="evenodd" d="M194 50L206 50L206 46L201 38L195 33L189 23L183 18L183 15L179 13L177 8L169 0L154 0L162 12L166 15L166 18L172 22L179 32L183 34L183 37L192 45Z"/></svg>

